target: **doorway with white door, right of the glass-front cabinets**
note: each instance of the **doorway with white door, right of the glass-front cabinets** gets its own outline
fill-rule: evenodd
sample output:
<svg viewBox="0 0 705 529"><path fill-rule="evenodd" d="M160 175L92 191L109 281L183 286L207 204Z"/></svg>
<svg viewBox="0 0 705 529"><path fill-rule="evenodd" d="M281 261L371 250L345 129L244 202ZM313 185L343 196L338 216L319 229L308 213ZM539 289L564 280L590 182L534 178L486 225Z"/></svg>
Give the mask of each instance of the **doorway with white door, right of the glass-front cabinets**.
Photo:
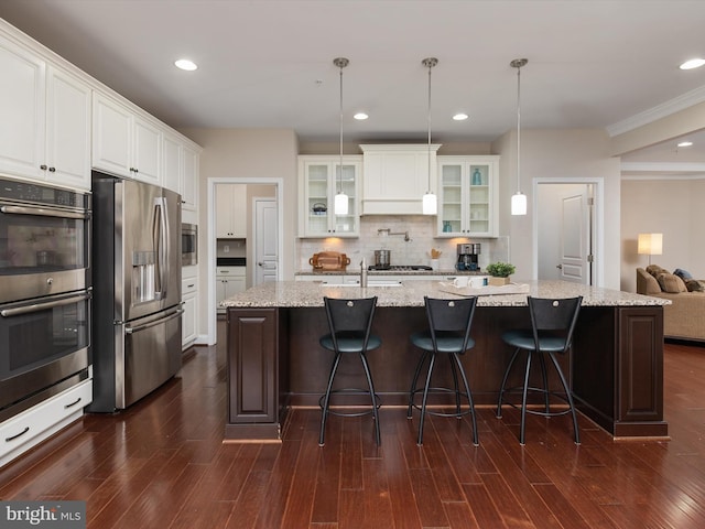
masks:
<svg viewBox="0 0 705 529"><path fill-rule="evenodd" d="M601 179L538 179L534 210L534 279L600 285Z"/></svg>

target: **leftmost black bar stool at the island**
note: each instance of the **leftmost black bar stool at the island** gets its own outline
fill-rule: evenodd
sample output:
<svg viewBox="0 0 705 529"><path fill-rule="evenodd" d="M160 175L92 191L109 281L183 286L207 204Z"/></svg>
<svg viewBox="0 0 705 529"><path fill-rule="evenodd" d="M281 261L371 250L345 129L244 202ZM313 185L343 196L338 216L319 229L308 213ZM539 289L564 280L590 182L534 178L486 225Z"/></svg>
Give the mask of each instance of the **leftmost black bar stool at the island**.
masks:
<svg viewBox="0 0 705 529"><path fill-rule="evenodd" d="M370 366L367 363L367 352L378 348L382 345L382 341L379 336L371 333L372 319L375 317L375 307L377 306L377 296L366 299L354 300L336 300L333 298L323 299L326 315L328 317L328 327L330 333L322 336L318 341L323 347L335 353L333 358L333 365L330 366L330 375L328 376L328 386L326 392L318 401L323 411L321 417L321 436L318 438L318 445L324 445L324 435L326 430L326 421L328 413L341 417L360 417L368 413L372 413L375 417L375 439L377 444L380 444L379 435L379 414L378 410L380 404L379 398L375 393L375 385L372 384L372 374L370 373ZM333 380L340 363L340 357L344 354L358 354L365 368L365 376L367 377L367 385L369 390L366 389L333 389ZM372 400L372 409L365 410L362 412L341 412L330 409L330 396L335 393L347 395L368 395Z"/></svg>

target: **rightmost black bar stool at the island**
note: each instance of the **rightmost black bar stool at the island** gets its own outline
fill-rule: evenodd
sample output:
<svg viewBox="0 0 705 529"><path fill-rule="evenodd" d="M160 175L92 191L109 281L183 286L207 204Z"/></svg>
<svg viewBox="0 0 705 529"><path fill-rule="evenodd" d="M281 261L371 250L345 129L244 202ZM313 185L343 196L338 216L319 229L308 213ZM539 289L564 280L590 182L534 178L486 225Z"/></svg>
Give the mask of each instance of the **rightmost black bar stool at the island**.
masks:
<svg viewBox="0 0 705 529"><path fill-rule="evenodd" d="M527 413L534 413L543 417L562 415L566 413L573 414L573 428L575 431L575 444L581 444L581 436L577 427L577 415L575 412L575 406L573 404L573 397L571 389L565 380L565 376L561 370L561 366L555 358L555 354L565 354L572 345L573 331L575 330L575 323L577 322L577 315L581 310L581 303L583 296L568 298L568 299L545 299L545 298L532 298L529 296L529 312L531 314L531 330L512 330L502 333L502 339L505 343L514 346L516 350L507 366L505 371L505 378L502 379L502 386L499 390L499 402L497 403L497 418L502 417L502 398L506 392L522 391L521 397L521 427L519 433L519 443L524 444L524 427L527 422ZM522 387L505 389L507 385L507 378L509 373L517 360L519 353L527 352L527 365L524 367L524 382ZM535 356L539 357L539 365L541 366L541 377L543 380L543 388L535 388L529 386L529 376L531 374L531 360ZM564 392L551 391L549 389L549 377L546 374L546 363L544 355L547 355L555 368L561 384L563 385ZM527 409L527 396L529 391L539 392L543 395L544 406L541 410ZM550 397L554 396L568 403L567 410L551 411ZM509 406L517 408L516 404L507 402Z"/></svg>

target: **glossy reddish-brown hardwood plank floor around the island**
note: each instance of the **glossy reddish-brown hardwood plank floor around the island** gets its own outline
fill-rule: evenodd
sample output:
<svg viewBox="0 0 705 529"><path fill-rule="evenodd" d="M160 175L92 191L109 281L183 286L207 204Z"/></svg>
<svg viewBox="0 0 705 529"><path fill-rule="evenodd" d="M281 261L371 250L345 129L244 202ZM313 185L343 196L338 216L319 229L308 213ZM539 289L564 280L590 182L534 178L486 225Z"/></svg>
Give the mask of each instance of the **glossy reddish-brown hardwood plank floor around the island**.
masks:
<svg viewBox="0 0 705 529"><path fill-rule="evenodd" d="M221 324L219 324L221 326ZM221 332L221 331L220 331ZM225 344L225 338L220 339ZM614 442L581 417L480 408L469 420L417 412L332 417L296 409L283 443L224 444L223 346L126 412L91 414L0 469L2 499L84 499L89 528L703 528L705 348L665 347L669 442Z"/></svg>

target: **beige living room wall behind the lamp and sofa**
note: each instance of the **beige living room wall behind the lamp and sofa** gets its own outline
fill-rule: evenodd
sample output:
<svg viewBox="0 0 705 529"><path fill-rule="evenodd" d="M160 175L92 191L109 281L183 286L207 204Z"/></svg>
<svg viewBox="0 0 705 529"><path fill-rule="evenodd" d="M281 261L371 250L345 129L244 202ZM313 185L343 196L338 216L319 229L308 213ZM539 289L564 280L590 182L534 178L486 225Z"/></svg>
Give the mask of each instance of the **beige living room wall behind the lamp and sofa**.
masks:
<svg viewBox="0 0 705 529"><path fill-rule="evenodd" d="M642 233L663 234L663 255L651 262L673 271L682 268L705 279L705 179L622 180L621 182L621 289L634 292L637 267L649 256L637 253Z"/></svg>

